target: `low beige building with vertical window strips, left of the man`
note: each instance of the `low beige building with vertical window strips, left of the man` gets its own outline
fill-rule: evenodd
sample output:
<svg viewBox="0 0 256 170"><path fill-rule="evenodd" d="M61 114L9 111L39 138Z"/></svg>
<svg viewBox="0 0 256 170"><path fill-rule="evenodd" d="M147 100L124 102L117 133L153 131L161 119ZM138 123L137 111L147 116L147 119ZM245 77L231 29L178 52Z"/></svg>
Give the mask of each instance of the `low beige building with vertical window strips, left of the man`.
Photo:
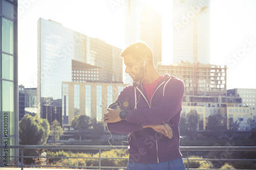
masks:
<svg viewBox="0 0 256 170"><path fill-rule="evenodd" d="M63 126L70 126L76 115L103 120L109 105L114 103L127 84L96 82L62 82Z"/></svg>

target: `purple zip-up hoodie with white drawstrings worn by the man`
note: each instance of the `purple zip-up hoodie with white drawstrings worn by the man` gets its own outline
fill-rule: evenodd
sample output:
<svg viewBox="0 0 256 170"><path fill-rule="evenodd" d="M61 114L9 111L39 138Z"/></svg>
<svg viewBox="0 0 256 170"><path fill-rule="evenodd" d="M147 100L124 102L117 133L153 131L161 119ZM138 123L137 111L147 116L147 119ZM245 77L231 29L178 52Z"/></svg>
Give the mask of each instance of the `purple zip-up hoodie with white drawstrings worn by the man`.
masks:
<svg viewBox="0 0 256 170"><path fill-rule="evenodd" d="M130 133L129 162L161 163L182 156L178 124L183 95L183 82L168 74L158 82L150 103L140 82L126 86L120 92L117 101L121 110L127 111L126 121L108 123L108 128L111 132ZM141 128L142 125L165 123L173 129L172 139L152 128Z"/></svg>

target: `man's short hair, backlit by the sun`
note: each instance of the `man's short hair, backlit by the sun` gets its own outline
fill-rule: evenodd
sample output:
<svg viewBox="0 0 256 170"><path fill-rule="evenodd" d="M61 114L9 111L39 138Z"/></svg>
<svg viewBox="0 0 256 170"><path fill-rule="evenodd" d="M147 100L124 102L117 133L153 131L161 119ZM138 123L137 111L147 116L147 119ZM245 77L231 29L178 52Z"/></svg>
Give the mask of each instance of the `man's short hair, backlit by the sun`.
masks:
<svg viewBox="0 0 256 170"><path fill-rule="evenodd" d="M143 41L134 42L127 46L120 54L120 57L125 57L127 55L132 55L132 57L137 61L142 59L153 63L154 60L151 48Z"/></svg>

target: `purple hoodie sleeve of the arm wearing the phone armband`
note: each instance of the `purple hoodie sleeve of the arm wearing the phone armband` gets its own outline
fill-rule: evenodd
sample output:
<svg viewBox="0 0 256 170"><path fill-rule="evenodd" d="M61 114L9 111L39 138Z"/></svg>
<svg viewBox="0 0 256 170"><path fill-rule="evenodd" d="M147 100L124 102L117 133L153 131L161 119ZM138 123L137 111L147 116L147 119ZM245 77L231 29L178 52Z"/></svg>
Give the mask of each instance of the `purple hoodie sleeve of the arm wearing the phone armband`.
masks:
<svg viewBox="0 0 256 170"><path fill-rule="evenodd" d="M129 88L131 86L126 86L119 94L116 102L120 102L121 110L131 110L130 99L129 99ZM138 130L142 130L141 125L136 123L120 121L116 123L107 123L108 129L111 132L116 133L132 133Z"/></svg>

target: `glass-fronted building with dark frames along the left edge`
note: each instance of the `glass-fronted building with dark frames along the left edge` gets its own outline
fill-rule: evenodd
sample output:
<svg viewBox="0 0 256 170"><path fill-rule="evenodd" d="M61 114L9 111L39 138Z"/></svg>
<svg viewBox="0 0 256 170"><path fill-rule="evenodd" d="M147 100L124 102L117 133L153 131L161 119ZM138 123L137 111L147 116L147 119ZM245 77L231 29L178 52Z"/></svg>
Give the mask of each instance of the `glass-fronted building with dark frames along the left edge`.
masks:
<svg viewBox="0 0 256 170"><path fill-rule="evenodd" d="M17 1L0 0L0 144L18 145L18 56L17 56ZM7 127L6 127L7 126ZM5 130L7 129L7 130ZM7 141L7 142L6 142ZM17 149L0 149L0 166L18 162ZM5 159L6 160L6 159ZM4 165L4 167L7 167Z"/></svg>

